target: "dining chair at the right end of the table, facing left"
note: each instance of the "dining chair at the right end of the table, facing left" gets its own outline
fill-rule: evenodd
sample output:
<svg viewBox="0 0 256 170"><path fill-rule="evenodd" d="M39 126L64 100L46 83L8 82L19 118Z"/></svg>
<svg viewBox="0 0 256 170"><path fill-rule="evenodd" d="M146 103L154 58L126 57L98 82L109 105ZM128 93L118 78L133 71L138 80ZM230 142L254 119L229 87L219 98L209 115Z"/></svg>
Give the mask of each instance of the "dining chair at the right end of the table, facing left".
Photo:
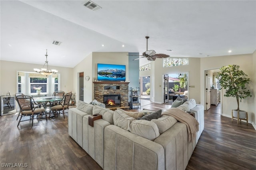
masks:
<svg viewBox="0 0 256 170"><path fill-rule="evenodd" d="M63 117L65 119L64 111L68 109L71 96L72 96L72 93L66 93L61 101L52 102L53 105L52 107L50 107L51 111L54 114L58 114L58 115L60 115L60 113L63 114Z"/></svg>

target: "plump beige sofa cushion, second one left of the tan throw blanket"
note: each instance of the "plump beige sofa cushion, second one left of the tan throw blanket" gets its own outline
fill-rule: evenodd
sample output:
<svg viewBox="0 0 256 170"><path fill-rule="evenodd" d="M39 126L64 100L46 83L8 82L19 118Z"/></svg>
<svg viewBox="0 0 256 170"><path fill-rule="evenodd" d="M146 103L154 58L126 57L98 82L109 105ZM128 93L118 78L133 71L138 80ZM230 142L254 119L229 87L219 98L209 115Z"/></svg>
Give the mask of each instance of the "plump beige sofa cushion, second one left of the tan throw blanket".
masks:
<svg viewBox="0 0 256 170"><path fill-rule="evenodd" d="M156 123L146 120L132 121L129 131L149 140L155 140L160 135Z"/></svg>

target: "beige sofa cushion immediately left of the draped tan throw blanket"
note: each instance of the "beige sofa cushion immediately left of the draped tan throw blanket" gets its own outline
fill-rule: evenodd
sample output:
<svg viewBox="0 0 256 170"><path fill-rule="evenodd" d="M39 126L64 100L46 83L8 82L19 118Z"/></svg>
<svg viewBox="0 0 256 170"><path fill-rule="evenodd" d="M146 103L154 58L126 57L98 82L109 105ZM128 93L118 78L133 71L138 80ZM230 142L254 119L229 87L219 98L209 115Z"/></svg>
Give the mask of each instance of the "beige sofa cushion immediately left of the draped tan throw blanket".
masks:
<svg viewBox="0 0 256 170"><path fill-rule="evenodd" d="M162 117L158 119L152 119L151 121L156 123L160 134L168 130L177 122L177 120L174 117L168 115L162 115Z"/></svg>

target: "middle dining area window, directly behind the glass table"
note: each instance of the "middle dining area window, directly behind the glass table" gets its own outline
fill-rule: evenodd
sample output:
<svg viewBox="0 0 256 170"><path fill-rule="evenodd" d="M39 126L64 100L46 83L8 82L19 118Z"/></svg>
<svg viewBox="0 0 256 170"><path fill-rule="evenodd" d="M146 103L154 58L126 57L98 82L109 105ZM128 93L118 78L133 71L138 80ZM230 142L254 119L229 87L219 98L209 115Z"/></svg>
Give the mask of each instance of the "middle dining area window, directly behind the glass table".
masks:
<svg viewBox="0 0 256 170"><path fill-rule="evenodd" d="M48 93L48 78L30 77L29 79L30 94L36 93L34 87L41 87L42 93Z"/></svg>

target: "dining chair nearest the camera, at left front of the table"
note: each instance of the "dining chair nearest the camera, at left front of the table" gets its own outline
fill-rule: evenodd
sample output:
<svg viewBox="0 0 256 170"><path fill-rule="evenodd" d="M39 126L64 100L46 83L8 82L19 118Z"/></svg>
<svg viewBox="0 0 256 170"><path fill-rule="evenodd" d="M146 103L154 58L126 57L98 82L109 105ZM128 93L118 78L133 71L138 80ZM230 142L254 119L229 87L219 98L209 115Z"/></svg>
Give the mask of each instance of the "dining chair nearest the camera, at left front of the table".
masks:
<svg viewBox="0 0 256 170"><path fill-rule="evenodd" d="M39 108L41 105L36 103L31 96L18 95L17 97L15 97L15 99L20 107L20 120L18 122L17 127L20 125L20 122L28 121L28 120L32 121L32 127L33 127L33 120L35 119L34 116L43 114L45 109ZM34 107L34 103L37 105L36 107ZM30 119L21 121L22 117L28 117L28 116L30 117Z"/></svg>

